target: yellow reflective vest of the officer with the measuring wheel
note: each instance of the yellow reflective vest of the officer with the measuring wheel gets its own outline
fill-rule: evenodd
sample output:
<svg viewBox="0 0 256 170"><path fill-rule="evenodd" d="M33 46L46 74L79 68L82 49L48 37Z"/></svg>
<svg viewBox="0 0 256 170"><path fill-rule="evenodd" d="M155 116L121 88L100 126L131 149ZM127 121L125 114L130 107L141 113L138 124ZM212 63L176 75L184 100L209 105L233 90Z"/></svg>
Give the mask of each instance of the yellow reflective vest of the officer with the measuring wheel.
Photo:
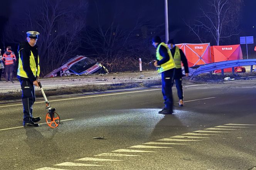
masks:
<svg viewBox="0 0 256 170"><path fill-rule="evenodd" d="M24 49L24 48L22 48L22 49ZM22 50L22 49L20 49L20 50ZM20 77L29 78L27 76L27 73L23 70L22 60L20 58L20 50L19 50L19 68L18 68L17 75L19 75ZM37 57L37 61L39 63L39 56ZM29 63L30 63L30 69L32 70L34 76L35 76L35 74L37 74L37 76L39 76L40 67L39 67L39 64L38 64L38 66L36 65L34 55L31 51L30 51L30 56L29 56ZM37 70L37 68L38 68L38 70Z"/></svg>

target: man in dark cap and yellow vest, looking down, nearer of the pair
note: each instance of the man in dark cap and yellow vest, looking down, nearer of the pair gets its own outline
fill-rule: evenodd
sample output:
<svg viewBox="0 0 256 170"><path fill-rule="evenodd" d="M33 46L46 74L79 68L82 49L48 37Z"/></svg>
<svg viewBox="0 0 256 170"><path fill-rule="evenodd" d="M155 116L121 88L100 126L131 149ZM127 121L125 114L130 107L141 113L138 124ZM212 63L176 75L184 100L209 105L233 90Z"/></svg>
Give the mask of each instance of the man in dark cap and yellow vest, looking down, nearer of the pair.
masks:
<svg viewBox="0 0 256 170"><path fill-rule="evenodd" d="M172 98L172 78L174 74L175 63L172 53L168 50L165 43L161 42L159 36L152 38L152 45L157 48L154 66L158 68L158 72L162 76L162 93L165 107L159 111L160 114L173 113L173 98Z"/></svg>

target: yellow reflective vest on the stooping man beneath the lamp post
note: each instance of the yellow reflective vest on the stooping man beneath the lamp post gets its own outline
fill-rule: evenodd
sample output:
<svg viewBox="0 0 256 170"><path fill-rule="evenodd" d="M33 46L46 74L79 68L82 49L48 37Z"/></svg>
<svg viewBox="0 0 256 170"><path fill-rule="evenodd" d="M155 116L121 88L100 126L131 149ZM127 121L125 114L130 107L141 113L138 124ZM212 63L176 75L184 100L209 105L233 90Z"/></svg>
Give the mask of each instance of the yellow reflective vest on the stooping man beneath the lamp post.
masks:
<svg viewBox="0 0 256 170"><path fill-rule="evenodd" d="M158 69L159 73L162 73L162 72L165 72L165 71L170 70L172 68L175 68L175 63L174 63L174 60L173 60L173 57L172 57L172 53L169 50L169 48L167 47L167 45L163 42L160 43L157 47L157 53L156 53L157 60L160 61L160 60L163 59L163 56L160 55L160 52L159 52L159 48L160 48L161 45L163 45L163 47L165 47L167 49L167 52L168 52L168 55L169 55L170 59L168 60L168 62L163 63L163 64L160 65L160 68Z"/></svg>

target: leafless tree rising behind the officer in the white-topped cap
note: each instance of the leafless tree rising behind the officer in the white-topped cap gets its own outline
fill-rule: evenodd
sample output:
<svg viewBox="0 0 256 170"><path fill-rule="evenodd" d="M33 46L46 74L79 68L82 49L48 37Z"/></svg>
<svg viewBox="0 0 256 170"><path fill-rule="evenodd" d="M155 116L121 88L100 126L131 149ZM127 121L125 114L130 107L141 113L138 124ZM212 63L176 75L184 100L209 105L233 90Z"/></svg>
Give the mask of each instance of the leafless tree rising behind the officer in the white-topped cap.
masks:
<svg viewBox="0 0 256 170"><path fill-rule="evenodd" d="M65 4L63 0L41 0L39 8L30 8L26 19L16 22L15 27L6 27L9 42L20 42L24 32L40 32L39 46L40 66L45 75L77 53L81 37L78 36L85 25L87 3L85 0ZM25 31L26 30L26 31ZM13 37L13 32L17 35Z"/></svg>

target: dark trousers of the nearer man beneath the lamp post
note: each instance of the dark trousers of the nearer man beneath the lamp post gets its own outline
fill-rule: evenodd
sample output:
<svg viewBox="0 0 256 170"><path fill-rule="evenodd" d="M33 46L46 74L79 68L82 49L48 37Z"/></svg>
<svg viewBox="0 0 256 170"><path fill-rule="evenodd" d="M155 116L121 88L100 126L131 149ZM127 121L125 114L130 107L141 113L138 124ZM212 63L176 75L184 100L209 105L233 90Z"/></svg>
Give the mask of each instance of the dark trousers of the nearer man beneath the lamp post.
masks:
<svg viewBox="0 0 256 170"><path fill-rule="evenodd" d="M167 110L172 111L173 98L172 98L172 79L174 68L161 73L162 76L162 93L165 107Z"/></svg>

